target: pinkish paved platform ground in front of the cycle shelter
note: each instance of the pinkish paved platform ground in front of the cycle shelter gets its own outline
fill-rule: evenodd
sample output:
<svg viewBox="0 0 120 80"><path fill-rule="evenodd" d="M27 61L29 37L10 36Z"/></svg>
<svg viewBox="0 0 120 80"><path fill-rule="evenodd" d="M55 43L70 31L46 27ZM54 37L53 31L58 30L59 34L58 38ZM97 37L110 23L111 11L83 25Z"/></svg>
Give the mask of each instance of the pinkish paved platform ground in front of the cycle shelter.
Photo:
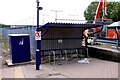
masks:
<svg viewBox="0 0 120 80"><path fill-rule="evenodd" d="M35 64L3 66L2 78L118 78L118 63L91 58L89 64L71 61L62 65Z"/></svg>

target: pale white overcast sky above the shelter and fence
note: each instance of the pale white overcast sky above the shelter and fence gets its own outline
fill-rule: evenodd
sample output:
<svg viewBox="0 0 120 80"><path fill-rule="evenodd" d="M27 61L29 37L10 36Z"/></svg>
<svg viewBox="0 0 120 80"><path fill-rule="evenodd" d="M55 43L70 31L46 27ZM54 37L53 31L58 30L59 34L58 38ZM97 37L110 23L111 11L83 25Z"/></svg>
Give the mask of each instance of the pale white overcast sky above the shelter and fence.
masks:
<svg viewBox="0 0 120 80"><path fill-rule="evenodd" d="M84 10L92 1L98 0L39 0L40 24L55 22L55 10L57 10L57 22L67 22L61 19L85 20ZM108 0L120 1L120 0ZM0 23L7 25L36 25L37 9L36 0L0 0ZM74 22L74 21L72 21ZM80 22L80 21L75 21ZM83 21L81 21L82 23Z"/></svg>

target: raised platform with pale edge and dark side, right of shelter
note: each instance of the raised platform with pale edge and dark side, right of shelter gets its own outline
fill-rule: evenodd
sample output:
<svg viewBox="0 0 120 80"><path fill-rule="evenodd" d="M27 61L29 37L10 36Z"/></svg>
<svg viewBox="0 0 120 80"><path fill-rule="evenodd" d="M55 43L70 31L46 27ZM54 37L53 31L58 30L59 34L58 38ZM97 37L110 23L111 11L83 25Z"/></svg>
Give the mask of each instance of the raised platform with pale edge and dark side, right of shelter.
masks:
<svg viewBox="0 0 120 80"><path fill-rule="evenodd" d="M115 45L106 43L89 45L88 47L91 57L120 62L120 47L116 48Z"/></svg>

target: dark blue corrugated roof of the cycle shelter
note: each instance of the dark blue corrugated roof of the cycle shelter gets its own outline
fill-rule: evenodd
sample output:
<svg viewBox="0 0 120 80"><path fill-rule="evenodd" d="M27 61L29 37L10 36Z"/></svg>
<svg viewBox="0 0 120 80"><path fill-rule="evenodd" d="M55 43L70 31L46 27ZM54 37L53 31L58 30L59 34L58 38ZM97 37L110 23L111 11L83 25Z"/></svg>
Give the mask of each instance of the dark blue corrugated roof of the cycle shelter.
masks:
<svg viewBox="0 0 120 80"><path fill-rule="evenodd" d="M101 27L100 24L78 24L78 23L46 23L41 27L56 27L56 28L95 28Z"/></svg>

